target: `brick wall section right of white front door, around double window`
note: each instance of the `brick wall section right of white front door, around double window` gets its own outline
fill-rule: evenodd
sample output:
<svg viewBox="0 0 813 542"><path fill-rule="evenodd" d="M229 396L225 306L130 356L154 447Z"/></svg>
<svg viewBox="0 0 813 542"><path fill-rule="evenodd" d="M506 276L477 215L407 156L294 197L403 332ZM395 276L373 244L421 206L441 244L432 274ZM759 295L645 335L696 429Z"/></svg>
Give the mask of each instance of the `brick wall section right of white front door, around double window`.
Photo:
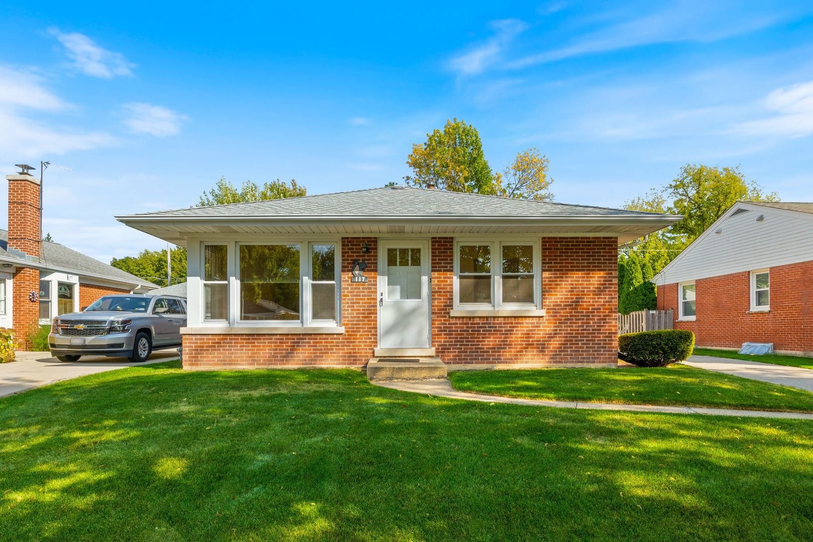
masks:
<svg viewBox="0 0 813 542"><path fill-rule="evenodd" d="M617 363L615 237L543 237L544 317L452 318L450 237L432 240L432 344L450 365Z"/></svg>

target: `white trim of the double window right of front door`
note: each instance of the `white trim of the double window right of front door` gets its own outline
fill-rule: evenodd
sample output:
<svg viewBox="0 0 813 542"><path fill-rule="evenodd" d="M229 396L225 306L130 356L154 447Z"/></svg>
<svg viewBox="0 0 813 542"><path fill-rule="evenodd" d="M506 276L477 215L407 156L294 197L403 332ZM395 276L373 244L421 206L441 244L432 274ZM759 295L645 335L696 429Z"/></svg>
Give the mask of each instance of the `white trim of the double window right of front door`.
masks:
<svg viewBox="0 0 813 542"><path fill-rule="evenodd" d="M464 245L491 245L491 303L459 302L460 247ZM502 246L533 246L533 303L502 303ZM454 310L451 316L508 316L544 315L542 308L542 267L540 241L536 238L523 237L484 237L477 239L454 239ZM529 312L533 311L533 312Z"/></svg>

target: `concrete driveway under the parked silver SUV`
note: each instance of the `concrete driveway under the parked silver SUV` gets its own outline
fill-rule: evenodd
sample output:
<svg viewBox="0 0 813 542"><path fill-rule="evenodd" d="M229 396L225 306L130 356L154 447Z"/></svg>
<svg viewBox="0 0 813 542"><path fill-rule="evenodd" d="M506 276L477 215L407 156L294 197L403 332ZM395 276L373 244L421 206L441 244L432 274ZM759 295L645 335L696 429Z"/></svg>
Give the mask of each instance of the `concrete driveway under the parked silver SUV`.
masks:
<svg viewBox="0 0 813 542"><path fill-rule="evenodd" d="M30 388L38 388L58 380L93 375L121 367L166 362L177 358L177 351L172 349L154 352L144 363L131 363L127 358L105 358L104 356L82 356L78 362L71 363L51 358L48 352L24 352L18 354L16 362L0 363L0 397Z"/></svg>

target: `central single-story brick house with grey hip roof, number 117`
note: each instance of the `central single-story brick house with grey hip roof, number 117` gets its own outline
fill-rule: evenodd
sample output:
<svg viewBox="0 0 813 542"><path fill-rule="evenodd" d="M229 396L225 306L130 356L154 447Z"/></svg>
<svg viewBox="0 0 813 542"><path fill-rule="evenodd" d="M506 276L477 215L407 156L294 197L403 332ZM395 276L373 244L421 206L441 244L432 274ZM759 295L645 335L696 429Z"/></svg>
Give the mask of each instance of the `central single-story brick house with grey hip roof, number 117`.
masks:
<svg viewBox="0 0 813 542"><path fill-rule="evenodd" d="M187 248L189 369L615 365L618 245L680 219L404 186L117 218Z"/></svg>

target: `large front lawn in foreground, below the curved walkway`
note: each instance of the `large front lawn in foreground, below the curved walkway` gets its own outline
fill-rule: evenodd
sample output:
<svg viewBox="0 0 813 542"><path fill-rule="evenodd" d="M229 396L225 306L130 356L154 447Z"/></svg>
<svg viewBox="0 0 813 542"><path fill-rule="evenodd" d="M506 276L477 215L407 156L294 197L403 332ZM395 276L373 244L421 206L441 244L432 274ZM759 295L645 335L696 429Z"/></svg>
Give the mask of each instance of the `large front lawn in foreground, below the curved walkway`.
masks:
<svg viewBox="0 0 813 542"><path fill-rule="evenodd" d="M489 405L350 370L176 366L0 399L0 540L813 532L813 422Z"/></svg>

